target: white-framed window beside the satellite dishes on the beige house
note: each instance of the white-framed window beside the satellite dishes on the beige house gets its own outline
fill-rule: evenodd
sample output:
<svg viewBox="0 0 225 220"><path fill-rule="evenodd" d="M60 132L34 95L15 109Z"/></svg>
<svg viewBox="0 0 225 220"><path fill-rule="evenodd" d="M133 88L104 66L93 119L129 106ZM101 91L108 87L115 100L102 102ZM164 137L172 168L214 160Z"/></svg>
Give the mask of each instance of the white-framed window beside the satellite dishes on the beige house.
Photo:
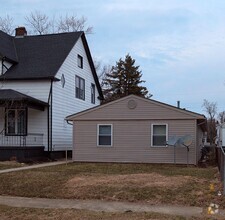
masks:
<svg viewBox="0 0 225 220"><path fill-rule="evenodd" d="M152 124L151 146L165 147L168 140L168 124Z"/></svg>

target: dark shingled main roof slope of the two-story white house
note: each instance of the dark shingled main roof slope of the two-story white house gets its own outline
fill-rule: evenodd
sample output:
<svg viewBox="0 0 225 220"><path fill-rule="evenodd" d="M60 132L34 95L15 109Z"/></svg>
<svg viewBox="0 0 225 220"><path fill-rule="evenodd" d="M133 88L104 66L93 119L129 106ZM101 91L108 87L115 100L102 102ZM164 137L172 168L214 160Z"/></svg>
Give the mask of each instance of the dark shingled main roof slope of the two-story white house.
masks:
<svg viewBox="0 0 225 220"><path fill-rule="evenodd" d="M82 34L83 32L72 32L14 38L18 63L0 76L0 79L54 78Z"/></svg>

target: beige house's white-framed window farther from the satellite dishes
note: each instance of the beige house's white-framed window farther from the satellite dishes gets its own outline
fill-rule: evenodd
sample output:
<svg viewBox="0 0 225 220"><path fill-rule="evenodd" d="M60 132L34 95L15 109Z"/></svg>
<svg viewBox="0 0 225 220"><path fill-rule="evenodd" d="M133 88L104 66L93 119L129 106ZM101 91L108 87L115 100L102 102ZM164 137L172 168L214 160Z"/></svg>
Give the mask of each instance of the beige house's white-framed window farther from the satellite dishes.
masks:
<svg viewBox="0 0 225 220"><path fill-rule="evenodd" d="M111 124L99 124L97 134L98 146L112 146L113 126Z"/></svg>

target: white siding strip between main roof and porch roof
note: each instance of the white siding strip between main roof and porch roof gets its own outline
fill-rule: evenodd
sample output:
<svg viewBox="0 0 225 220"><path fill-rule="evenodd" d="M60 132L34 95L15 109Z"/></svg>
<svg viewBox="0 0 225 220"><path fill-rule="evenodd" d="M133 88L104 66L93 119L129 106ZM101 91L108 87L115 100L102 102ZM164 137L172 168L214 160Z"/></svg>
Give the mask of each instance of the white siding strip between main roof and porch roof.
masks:
<svg viewBox="0 0 225 220"><path fill-rule="evenodd" d="M13 89L25 95L34 97L44 102L48 102L50 91L50 80L27 80L27 81L2 81L0 82L1 89Z"/></svg>

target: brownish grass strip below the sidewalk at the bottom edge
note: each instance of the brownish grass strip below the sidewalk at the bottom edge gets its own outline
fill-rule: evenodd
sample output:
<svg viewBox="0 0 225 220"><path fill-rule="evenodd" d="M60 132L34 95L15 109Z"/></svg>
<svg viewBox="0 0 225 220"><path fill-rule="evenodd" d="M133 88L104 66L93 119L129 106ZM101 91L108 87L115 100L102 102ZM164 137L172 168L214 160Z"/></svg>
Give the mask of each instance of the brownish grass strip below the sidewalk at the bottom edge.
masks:
<svg viewBox="0 0 225 220"><path fill-rule="evenodd" d="M87 210L74 209L32 209L32 208L10 208L0 205L0 219L4 220L67 220L67 219L86 219L86 220L209 220L211 217L192 217L164 215L159 213L105 213ZM222 219L222 218L221 218Z"/></svg>

